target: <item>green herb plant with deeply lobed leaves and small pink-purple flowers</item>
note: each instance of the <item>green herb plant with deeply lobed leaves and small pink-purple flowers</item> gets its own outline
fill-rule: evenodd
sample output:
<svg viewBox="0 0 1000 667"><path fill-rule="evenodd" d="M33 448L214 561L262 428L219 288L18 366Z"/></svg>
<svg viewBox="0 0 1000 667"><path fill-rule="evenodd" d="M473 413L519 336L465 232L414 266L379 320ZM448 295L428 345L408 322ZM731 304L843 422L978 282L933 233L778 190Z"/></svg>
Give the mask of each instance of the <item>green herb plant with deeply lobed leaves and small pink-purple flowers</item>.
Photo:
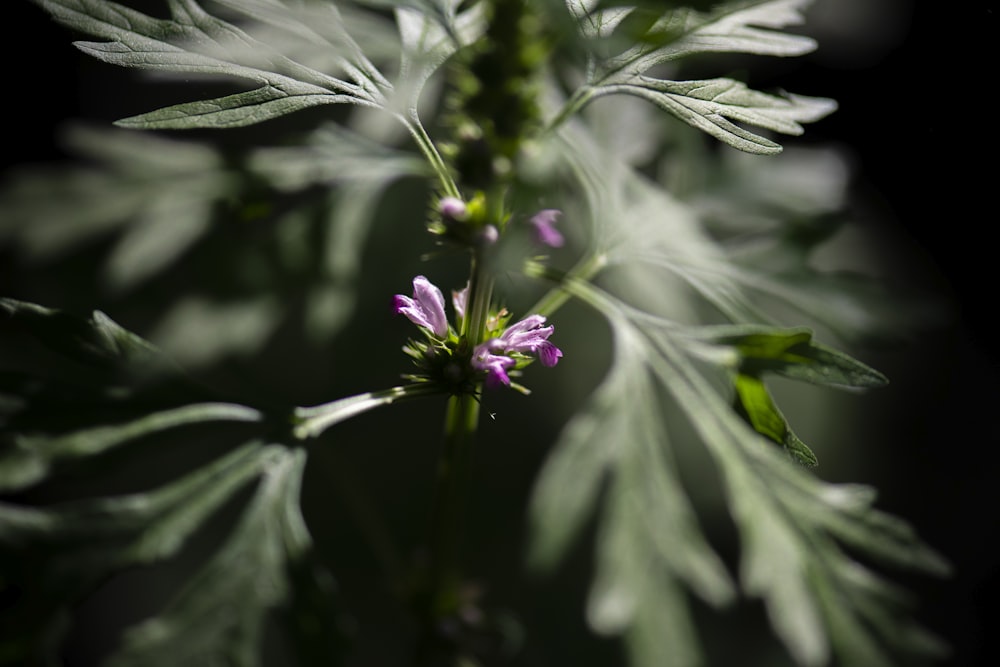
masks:
<svg viewBox="0 0 1000 667"><path fill-rule="evenodd" d="M470 571L497 521L472 499L519 438L548 444L496 505L526 517L504 581L583 567L600 659L712 661L706 610L746 601L766 664L942 653L891 579L948 565L821 479L773 390L887 381L843 349L891 297L813 261L847 224L841 163L778 155L836 103L712 72L814 49L809 0L33 3L181 98L74 128L86 163L3 191L0 239L93 267L144 336L0 301L24 350L0 376L0 664L61 664L91 596L192 553L104 664L584 664ZM262 387L287 331L299 359ZM417 491L406 521L378 518L359 448ZM361 528L331 537L338 503ZM384 567L354 586L359 551Z"/></svg>

